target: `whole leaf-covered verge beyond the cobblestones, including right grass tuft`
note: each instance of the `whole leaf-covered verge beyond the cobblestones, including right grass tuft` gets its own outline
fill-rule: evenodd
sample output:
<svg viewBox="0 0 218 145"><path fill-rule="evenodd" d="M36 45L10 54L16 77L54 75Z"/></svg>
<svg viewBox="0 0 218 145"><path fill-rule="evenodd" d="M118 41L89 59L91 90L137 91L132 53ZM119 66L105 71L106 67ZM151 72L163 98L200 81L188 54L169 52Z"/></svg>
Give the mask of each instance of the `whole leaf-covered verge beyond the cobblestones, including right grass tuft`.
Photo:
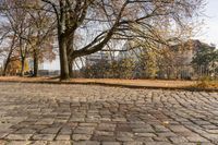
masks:
<svg viewBox="0 0 218 145"><path fill-rule="evenodd" d="M0 82L56 83L56 84L98 84L135 88L171 88L171 89L214 89L218 90L218 81L179 81L179 80L119 80L119 78L71 78L60 82L59 77L20 77L0 76Z"/></svg>

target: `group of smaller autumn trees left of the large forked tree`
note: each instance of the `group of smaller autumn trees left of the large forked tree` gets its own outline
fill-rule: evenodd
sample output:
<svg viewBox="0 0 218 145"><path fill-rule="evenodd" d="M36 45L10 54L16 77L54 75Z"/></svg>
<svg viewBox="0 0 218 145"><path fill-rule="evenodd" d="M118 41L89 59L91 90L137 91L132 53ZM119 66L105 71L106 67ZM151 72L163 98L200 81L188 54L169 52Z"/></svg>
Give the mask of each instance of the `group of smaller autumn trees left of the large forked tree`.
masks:
<svg viewBox="0 0 218 145"><path fill-rule="evenodd" d="M4 59L3 75L10 72L9 65L21 62L20 74L24 75L27 59L34 61L34 76L38 63L55 59L55 27L51 14L41 11L37 2L1 1L1 56ZM34 7L34 9L27 9Z"/></svg>

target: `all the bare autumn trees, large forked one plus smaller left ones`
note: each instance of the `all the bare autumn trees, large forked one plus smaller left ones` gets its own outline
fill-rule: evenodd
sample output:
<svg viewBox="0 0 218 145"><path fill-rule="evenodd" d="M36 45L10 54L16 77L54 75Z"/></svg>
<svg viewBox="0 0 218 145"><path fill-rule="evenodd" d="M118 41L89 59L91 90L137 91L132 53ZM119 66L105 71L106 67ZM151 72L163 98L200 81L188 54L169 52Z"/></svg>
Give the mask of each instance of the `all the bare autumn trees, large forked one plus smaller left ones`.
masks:
<svg viewBox="0 0 218 145"><path fill-rule="evenodd" d="M60 77L68 80L77 58L117 40L168 45L184 39L203 4L203 0L2 0L1 34L9 44L4 68L11 56L19 55L23 75L25 59L33 57L37 75L39 60L53 52L57 39Z"/></svg>

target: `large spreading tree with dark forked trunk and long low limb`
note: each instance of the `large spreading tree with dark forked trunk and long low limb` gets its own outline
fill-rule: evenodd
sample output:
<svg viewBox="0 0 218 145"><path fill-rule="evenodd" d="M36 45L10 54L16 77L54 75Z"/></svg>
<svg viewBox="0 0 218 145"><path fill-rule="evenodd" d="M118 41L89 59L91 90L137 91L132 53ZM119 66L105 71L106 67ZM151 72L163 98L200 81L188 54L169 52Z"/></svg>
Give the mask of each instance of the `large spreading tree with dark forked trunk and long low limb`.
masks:
<svg viewBox="0 0 218 145"><path fill-rule="evenodd" d="M152 31L154 20L184 26L201 8L202 0L41 0L56 14L61 78L69 78L69 63L94 53L113 38L137 36L133 25ZM187 21L186 21L187 20ZM75 39L82 35L83 41ZM85 40L84 40L85 38ZM153 39L144 37L145 39ZM77 47L75 47L77 46ZM71 67L71 65L70 65Z"/></svg>

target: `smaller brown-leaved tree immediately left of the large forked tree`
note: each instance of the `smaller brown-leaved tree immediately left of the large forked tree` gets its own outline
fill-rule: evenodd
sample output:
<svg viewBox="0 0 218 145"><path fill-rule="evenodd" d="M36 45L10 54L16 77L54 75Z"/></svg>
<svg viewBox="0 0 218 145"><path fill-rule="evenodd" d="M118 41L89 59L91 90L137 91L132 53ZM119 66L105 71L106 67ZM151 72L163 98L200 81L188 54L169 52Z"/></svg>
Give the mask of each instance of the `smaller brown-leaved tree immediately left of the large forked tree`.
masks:
<svg viewBox="0 0 218 145"><path fill-rule="evenodd" d="M56 58L52 48L55 37L55 25L51 20L52 15L47 11L41 11L39 8L40 3L37 2L34 9L27 10L31 16L32 27L34 28L34 34L32 36L32 56L34 60L33 76L38 75L39 61L53 60Z"/></svg>

